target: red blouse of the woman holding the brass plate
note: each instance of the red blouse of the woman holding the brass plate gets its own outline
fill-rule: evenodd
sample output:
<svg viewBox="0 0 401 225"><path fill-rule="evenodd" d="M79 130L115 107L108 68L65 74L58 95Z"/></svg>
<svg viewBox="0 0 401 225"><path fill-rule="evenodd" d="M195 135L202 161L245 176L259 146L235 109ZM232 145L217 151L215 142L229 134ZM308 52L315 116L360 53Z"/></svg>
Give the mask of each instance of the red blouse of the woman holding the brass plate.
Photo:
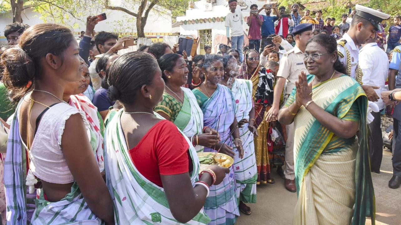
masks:
<svg viewBox="0 0 401 225"><path fill-rule="evenodd" d="M188 149L189 145L176 125L162 120L128 153L135 167L146 179L163 187L160 175L176 175L189 171Z"/></svg>

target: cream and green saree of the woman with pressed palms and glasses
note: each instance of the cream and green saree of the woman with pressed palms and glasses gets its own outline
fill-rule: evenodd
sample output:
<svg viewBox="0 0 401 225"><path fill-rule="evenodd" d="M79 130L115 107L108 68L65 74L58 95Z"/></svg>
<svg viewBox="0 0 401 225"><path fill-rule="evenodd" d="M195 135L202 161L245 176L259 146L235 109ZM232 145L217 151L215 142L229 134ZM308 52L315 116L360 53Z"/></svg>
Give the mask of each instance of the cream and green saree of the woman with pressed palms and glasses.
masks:
<svg viewBox="0 0 401 225"><path fill-rule="evenodd" d="M314 75L308 75L311 82ZM286 106L295 100L295 89ZM367 96L342 75L312 87L312 99L342 120L359 122L357 135L343 139L322 126L305 107L294 118L298 203L294 225L375 223L375 195L367 147Z"/></svg>

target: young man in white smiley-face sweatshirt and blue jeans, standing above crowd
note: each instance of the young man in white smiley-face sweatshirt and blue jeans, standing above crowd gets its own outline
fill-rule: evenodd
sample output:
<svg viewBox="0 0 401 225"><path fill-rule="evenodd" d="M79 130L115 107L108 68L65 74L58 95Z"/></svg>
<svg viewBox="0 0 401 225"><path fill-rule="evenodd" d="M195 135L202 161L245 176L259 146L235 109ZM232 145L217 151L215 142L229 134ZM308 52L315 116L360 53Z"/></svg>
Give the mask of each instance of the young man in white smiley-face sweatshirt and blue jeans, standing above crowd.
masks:
<svg viewBox="0 0 401 225"><path fill-rule="evenodd" d="M237 49L242 62L242 47L244 45L244 29L242 24L244 20L241 10L236 10L237 0L229 0L228 5L230 12L225 18L227 45L231 44L231 48Z"/></svg>

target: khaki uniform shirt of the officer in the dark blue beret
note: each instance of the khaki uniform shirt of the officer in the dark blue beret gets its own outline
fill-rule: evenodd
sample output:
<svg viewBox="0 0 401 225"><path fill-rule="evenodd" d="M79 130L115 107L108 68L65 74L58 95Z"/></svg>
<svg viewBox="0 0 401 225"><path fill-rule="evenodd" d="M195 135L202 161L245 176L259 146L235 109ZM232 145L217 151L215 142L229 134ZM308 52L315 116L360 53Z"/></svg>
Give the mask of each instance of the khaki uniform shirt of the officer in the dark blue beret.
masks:
<svg viewBox="0 0 401 225"><path fill-rule="evenodd" d="M293 49L283 55L280 60L280 67L277 72L277 76L281 76L287 79L287 85L284 90L284 94L291 94L295 88L295 82L298 81L298 76L302 71L308 74L306 65L304 64L303 52L295 46Z"/></svg>

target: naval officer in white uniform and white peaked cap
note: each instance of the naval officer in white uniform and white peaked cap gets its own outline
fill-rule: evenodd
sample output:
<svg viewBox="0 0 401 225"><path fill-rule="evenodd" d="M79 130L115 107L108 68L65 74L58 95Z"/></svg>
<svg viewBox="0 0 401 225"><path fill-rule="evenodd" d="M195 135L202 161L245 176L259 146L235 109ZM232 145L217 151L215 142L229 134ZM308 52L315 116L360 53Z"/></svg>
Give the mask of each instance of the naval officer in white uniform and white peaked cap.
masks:
<svg viewBox="0 0 401 225"><path fill-rule="evenodd" d="M352 18L350 29L337 41L340 62L347 68L347 74L360 84L362 84L362 71L358 66L359 49L357 45L365 44L370 39L375 38L376 31L381 30L379 23L387 18L390 18L390 15L356 5L356 14ZM370 101L377 102L379 96L375 89L379 87L363 84L362 88Z"/></svg>

